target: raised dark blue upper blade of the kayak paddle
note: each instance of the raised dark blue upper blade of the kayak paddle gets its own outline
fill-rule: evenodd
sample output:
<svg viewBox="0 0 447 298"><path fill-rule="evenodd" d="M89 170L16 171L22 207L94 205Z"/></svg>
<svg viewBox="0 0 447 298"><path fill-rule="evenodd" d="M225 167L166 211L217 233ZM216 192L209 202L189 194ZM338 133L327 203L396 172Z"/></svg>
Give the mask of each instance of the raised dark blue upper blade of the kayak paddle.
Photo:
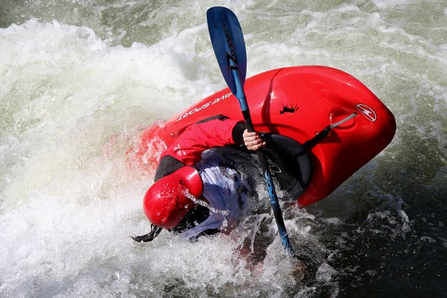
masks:
<svg viewBox="0 0 447 298"><path fill-rule="evenodd" d="M212 48L223 78L233 94L240 94L243 90L238 88L243 89L247 73L247 53L239 21L228 8L216 6L208 9L207 22Z"/></svg>

